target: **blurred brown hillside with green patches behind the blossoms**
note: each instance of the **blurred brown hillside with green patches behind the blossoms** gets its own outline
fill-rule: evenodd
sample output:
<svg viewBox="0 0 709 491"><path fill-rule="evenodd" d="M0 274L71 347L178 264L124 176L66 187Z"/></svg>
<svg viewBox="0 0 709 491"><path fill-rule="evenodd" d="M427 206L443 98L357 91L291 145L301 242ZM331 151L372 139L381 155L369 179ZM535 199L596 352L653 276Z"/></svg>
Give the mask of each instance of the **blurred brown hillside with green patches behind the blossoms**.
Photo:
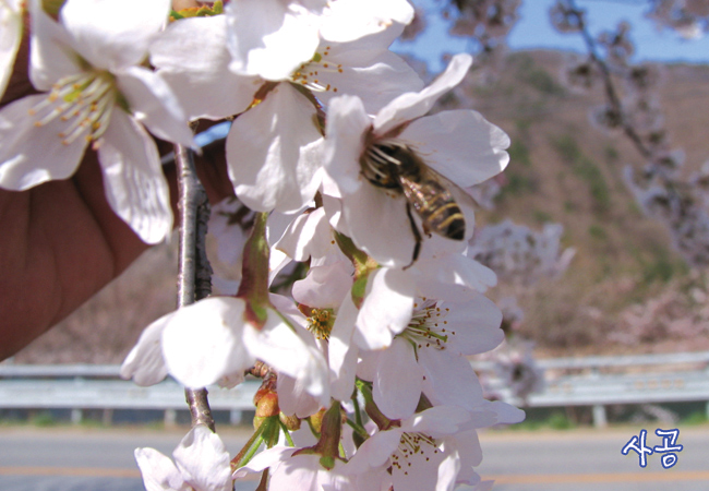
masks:
<svg viewBox="0 0 709 491"><path fill-rule="evenodd" d="M577 250L563 277L501 285L491 296L517 296L525 310L518 331L541 355L709 349L709 286L623 184L623 167L639 166L639 155L622 136L590 127L600 92L573 94L556 82L563 56L514 53L501 80L471 88L473 107L513 140L506 184L495 209L479 213L479 226L556 221L564 246ZM672 141L685 149L687 168L697 168L709 159L709 67L669 65L664 80ZM173 246L148 251L15 361L122 361L143 327L173 309L175 264Z"/></svg>

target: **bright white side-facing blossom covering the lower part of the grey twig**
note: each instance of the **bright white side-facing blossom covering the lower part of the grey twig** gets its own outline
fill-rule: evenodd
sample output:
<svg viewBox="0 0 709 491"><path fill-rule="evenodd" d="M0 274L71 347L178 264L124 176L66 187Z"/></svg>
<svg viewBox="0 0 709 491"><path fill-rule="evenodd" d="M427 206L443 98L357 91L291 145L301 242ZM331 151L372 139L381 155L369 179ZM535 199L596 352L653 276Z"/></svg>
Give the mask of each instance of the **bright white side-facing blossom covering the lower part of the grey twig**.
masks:
<svg viewBox="0 0 709 491"><path fill-rule="evenodd" d="M121 367L121 376L141 385L171 374L187 387L214 383L232 387L259 359L325 404L327 367L310 333L283 313L291 304L268 308L262 326L241 298L209 297L164 315L147 326ZM194 328L200 326L199 335Z"/></svg>

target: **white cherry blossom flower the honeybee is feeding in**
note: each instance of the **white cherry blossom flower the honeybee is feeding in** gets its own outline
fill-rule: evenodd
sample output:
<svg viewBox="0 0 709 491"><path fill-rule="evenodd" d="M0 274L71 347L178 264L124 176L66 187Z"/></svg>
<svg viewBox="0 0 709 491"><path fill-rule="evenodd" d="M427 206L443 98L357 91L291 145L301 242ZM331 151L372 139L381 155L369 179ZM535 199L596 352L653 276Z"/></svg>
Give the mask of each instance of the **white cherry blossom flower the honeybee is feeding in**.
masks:
<svg viewBox="0 0 709 491"><path fill-rule="evenodd" d="M341 232L384 266L411 264L417 239L402 193L385 192L365 177L366 152L375 145L395 144L409 148L433 171L455 182L447 184L454 194L502 171L509 159L504 151L507 135L471 110L444 111L423 117L435 100L457 85L468 72L472 59L459 55L429 87L404 94L374 119L366 116L362 103L343 96L331 103L325 143L325 169L335 181L341 199ZM370 170L370 173L373 170ZM395 184L390 184L395 188ZM462 196L461 196L462 197ZM471 211L458 201L471 221ZM376 216L376 219L372 217ZM466 227L465 236L472 235Z"/></svg>

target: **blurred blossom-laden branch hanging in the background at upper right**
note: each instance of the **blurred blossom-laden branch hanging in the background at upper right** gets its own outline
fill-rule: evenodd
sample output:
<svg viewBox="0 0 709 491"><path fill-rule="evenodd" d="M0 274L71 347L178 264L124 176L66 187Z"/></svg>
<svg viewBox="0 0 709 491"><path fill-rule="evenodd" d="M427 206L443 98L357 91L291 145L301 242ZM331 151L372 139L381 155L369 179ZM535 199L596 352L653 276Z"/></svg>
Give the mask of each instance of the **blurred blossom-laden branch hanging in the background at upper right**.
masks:
<svg viewBox="0 0 709 491"><path fill-rule="evenodd" d="M684 32L688 37L696 37L706 29L702 27L708 13L706 1L652 3L649 15L660 25ZM591 122L603 131L626 135L646 161L640 171L630 167L624 169L625 183L636 201L646 214L669 229L674 247L687 262L707 264L707 180L702 172L689 179L682 176L684 152L672 147L657 97L661 70L652 64L630 62L634 46L627 23L593 37L586 25L585 12L572 0L558 0L551 15L560 31L580 33L588 49L587 59L572 61L563 80L574 89L602 86L606 100L593 109ZM618 81L622 91L616 86Z"/></svg>

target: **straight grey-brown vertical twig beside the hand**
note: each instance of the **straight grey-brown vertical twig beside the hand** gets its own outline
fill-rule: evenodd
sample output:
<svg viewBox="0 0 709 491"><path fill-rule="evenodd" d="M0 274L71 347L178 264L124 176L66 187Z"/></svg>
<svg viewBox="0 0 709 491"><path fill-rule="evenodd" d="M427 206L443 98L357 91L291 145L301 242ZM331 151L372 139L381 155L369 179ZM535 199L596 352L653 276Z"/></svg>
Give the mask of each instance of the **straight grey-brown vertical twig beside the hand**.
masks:
<svg viewBox="0 0 709 491"><path fill-rule="evenodd" d="M212 267L206 256L205 237L209 202L194 170L192 151L175 146L180 200L180 252L178 271L178 308L208 297L212 292ZM196 326L195 326L196 327ZM195 332L195 336L199 336ZM205 424L215 430L206 388L185 390L192 426Z"/></svg>

